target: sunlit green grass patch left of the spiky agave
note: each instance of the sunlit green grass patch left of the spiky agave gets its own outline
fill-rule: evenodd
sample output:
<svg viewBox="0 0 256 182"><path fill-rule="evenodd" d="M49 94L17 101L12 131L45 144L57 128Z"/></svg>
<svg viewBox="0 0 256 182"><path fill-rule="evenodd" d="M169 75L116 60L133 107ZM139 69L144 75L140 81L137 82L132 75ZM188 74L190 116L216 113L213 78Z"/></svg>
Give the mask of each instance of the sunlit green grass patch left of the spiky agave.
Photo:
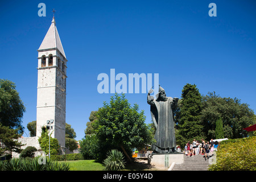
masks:
<svg viewBox="0 0 256 182"><path fill-rule="evenodd" d="M95 162L95 160L70 160L66 161L69 164L70 171L102 171L103 164Z"/></svg>

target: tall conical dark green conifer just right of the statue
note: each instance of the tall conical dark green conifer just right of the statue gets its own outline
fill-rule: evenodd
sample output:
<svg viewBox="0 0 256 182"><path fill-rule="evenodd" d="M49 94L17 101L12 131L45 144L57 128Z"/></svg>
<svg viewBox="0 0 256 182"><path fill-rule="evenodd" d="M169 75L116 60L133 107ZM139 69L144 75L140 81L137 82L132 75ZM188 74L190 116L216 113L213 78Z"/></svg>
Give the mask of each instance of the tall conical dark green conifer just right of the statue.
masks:
<svg viewBox="0 0 256 182"><path fill-rule="evenodd" d="M187 84L181 94L179 113L177 113L177 144L182 147L188 140L201 139L203 137L203 125L201 123L202 97L196 85Z"/></svg>

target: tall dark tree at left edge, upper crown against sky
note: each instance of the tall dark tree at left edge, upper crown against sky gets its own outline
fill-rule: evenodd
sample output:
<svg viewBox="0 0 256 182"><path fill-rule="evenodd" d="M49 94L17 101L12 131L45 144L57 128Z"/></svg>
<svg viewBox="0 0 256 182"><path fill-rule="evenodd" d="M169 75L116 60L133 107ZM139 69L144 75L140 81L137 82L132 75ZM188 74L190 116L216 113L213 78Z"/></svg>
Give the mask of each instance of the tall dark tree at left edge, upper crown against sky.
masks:
<svg viewBox="0 0 256 182"><path fill-rule="evenodd" d="M14 82L0 79L0 123L23 133L23 113L26 111Z"/></svg>

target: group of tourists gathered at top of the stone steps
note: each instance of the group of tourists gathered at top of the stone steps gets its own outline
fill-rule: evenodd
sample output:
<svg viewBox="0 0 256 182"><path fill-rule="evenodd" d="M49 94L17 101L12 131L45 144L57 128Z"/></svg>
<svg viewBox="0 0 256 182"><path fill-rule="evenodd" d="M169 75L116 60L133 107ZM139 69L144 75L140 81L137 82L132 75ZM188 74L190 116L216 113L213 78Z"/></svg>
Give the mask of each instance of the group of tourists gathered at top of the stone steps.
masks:
<svg viewBox="0 0 256 182"><path fill-rule="evenodd" d="M188 141L185 146L185 154L188 156L194 155L205 155L205 160L209 158L209 156L213 155L213 151L217 151L218 142L213 142L213 139L210 139L210 142L205 142L204 139L199 140L193 139L193 142Z"/></svg>

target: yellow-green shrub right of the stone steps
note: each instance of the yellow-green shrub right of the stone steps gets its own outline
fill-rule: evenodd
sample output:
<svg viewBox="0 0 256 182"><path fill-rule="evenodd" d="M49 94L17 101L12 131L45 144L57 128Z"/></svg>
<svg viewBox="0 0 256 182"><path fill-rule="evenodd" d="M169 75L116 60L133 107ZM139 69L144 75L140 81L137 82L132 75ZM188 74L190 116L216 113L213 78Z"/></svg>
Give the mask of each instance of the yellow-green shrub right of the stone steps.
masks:
<svg viewBox="0 0 256 182"><path fill-rule="evenodd" d="M216 164L211 171L255 171L256 137L225 140L218 148Z"/></svg>

